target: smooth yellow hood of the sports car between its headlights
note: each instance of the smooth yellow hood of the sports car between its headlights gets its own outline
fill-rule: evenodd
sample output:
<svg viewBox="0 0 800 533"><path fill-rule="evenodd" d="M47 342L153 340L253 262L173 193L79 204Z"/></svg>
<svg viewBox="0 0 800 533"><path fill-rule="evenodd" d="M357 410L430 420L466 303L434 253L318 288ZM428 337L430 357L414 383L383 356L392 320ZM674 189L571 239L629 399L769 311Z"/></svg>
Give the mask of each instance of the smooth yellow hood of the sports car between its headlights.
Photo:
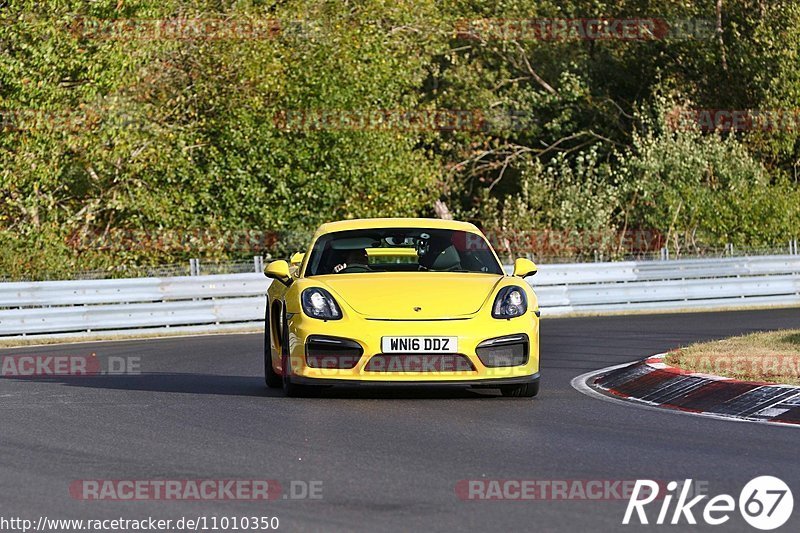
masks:
<svg viewBox="0 0 800 533"><path fill-rule="evenodd" d="M441 320L479 311L503 277L470 272L371 272L318 279L337 301L369 318Z"/></svg>

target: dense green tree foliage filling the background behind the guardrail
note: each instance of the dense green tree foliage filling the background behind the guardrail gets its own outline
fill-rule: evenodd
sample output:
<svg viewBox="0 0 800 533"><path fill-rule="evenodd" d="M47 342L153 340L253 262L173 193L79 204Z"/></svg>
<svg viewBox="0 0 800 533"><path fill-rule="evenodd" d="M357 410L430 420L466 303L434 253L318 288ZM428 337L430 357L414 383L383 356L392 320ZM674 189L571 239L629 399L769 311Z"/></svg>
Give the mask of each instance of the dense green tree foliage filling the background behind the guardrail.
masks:
<svg viewBox="0 0 800 533"><path fill-rule="evenodd" d="M436 200L489 231L784 243L800 222L798 128L701 131L670 117L796 109L800 7L718 5L4 4L0 276L280 255L323 221L435 216ZM476 25L581 18L657 18L673 33L548 40ZM183 33L154 33L157 21ZM478 127L373 120L436 110L467 111ZM368 122L341 120L352 116ZM86 238L128 230L277 240L231 251L214 239L187 249Z"/></svg>

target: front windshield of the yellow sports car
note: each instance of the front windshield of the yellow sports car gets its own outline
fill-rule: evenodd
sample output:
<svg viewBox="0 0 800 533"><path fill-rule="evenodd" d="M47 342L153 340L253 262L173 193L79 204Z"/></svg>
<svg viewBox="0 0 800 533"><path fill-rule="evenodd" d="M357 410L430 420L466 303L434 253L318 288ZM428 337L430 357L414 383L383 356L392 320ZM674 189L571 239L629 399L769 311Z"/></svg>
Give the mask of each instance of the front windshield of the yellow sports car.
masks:
<svg viewBox="0 0 800 533"><path fill-rule="evenodd" d="M503 269L481 235L423 228L340 231L314 243L306 276L358 272L479 272Z"/></svg>

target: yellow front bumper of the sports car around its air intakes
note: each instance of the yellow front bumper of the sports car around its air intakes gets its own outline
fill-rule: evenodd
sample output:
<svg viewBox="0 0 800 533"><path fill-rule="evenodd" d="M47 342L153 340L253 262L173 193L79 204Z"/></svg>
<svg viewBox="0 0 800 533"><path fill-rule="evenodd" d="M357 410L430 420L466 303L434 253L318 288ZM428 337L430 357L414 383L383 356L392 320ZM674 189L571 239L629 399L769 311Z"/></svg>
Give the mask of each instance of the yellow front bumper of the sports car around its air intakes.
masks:
<svg viewBox="0 0 800 533"><path fill-rule="evenodd" d="M486 340L525 334L527 361L517 366L486 366L476 352ZM314 368L306 360L306 341L321 335L357 342L363 355L353 368ZM456 371L373 371L367 368L372 357L381 354L384 336L454 336L458 354L468 359L472 370ZM315 385L459 385L498 387L524 384L539 379L539 318L535 312L498 320L475 315L458 320L371 320L347 316L342 320L322 321L302 313L289 320L289 354L292 383Z"/></svg>

